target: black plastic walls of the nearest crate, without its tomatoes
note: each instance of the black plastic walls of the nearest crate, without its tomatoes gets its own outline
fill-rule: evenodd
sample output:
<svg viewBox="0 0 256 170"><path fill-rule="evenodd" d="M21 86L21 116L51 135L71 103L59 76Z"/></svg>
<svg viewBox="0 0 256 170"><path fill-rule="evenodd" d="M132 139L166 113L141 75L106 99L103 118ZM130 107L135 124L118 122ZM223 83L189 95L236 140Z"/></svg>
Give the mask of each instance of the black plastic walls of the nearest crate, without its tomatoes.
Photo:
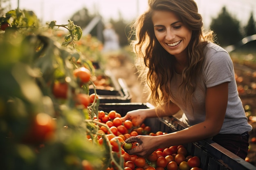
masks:
<svg viewBox="0 0 256 170"><path fill-rule="evenodd" d="M117 113L124 116L128 111L149 107L151 106L148 103L111 103L100 104L99 110L105 112L116 110ZM152 132L162 131L170 133L188 127L186 124L172 116L148 118L144 123L147 126L150 126ZM255 166L210 139L192 142L186 144L185 147L190 155L198 156L200 158L200 167L203 170L256 170Z"/></svg>

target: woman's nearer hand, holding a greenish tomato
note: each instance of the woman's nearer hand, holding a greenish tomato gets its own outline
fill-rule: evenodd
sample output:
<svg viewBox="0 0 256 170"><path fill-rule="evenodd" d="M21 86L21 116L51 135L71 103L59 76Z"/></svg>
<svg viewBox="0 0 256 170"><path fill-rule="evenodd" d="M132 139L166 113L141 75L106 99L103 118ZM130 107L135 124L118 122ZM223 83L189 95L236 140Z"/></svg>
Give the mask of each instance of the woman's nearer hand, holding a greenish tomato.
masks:
<svg viewBox="0 0 256 170"><path fill-rule="evenodd" d="M132 148L130 150L124 150L129 155L138 155L140 157L148 157L148 155L152 154L157 149L157 142L155 139L157 136L149 136L149 135L138 135L136 137L129 137L125 140L126 143L137 142L138 146Z"/></svg>

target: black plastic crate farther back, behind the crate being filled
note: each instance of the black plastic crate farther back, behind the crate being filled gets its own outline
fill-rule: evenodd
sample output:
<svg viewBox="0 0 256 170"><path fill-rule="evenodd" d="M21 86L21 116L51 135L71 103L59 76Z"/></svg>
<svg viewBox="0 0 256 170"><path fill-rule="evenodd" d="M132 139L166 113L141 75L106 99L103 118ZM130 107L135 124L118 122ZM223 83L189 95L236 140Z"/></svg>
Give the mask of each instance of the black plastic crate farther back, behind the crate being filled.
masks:
<svg viewBox="0 0 256 170"><path fill-rule="evenodd" d="M110 71L106 70L105 74L111 79L112 90L97 89L96 93L100 103L127 103L131 100L131 95L124 79L116 79ZM89 94L94 93L94 89L89 89Z"/></svg>

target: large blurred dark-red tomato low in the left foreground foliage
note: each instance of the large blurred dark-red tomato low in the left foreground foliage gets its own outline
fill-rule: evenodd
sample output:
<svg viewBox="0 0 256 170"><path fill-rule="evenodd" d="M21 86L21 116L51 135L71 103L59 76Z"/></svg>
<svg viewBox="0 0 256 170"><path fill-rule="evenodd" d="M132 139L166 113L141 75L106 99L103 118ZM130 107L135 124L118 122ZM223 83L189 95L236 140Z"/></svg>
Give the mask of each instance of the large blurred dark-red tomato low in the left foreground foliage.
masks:
<svg viewBox="0 0 256 170"><path fill-rule="evenodd" d="M42 144L52 139L55 127L56 123L50 115L38 113L22 141L29 144Z"/></svg>

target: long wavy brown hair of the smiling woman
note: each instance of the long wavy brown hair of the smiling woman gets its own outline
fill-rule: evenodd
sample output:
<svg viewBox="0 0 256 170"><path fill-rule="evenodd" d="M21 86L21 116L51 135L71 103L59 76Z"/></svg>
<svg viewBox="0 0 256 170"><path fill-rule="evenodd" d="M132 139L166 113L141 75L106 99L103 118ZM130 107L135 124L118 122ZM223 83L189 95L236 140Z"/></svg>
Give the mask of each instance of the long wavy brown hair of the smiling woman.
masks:
<svg viewBox="0 0 256 170"><path fill-rule="evenodd" d="M183 82L180 91L186 91L184 103L191 100L196 86L196 79L201 74L204 61L203 49L207 40L213 42L213 33L203 35L202 17L198 13L197 4L193 0L148 0L148 10L139 16L132 25L135 40L131 42L137 55L135 65L139 76L150 88L151 102L154 105L170 102L170 82L173 77L175 57L159 44L155 37L152 14L154 11L170 11L192 30L188 45L187 64L182 72Z"/></svg>

